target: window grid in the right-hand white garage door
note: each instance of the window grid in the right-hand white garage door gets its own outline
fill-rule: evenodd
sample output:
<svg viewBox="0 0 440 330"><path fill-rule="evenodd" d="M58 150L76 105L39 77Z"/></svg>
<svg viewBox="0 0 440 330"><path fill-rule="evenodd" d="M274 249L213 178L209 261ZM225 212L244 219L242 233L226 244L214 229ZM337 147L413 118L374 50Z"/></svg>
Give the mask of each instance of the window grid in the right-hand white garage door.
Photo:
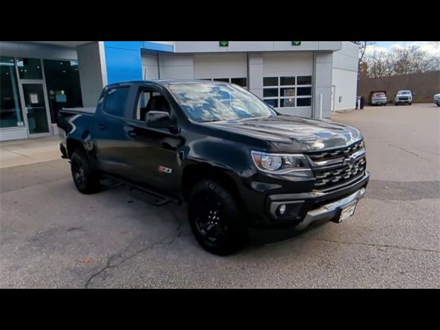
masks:
<svg viewBox="0 0 440 330"><path fill-rule="evenodd" d="M274 108L311 106L311 76L263 78L263 100Z"/></svg>

